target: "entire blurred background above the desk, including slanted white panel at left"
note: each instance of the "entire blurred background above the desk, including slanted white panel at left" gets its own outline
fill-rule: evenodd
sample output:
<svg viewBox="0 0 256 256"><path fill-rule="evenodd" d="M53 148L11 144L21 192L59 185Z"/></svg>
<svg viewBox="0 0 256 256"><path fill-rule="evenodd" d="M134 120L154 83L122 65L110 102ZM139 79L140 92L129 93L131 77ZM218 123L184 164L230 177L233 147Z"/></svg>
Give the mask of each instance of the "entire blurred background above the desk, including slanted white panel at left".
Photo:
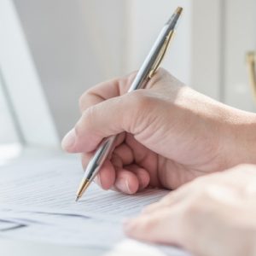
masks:
<svg viewBox="0 0 256 256"><path fill-rule="evenodd" d="M183 18L163 66L254 112L246 55L256 50L255 0L1 0L2 162L24 147L60 148L79 96L137 70L177 6Z"/></svg>

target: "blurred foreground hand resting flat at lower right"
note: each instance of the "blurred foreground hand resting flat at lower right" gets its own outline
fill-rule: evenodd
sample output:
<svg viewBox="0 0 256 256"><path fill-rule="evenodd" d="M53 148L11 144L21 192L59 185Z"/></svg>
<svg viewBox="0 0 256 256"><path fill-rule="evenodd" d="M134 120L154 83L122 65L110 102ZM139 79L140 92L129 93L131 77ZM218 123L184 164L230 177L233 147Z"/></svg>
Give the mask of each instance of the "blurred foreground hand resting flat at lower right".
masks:
<svg viewBox="0 0 256 256"><path fill-rule="evenodd" d="M128 236L193 255L256 255L256 166L199 177L125 224Z"/></svg>

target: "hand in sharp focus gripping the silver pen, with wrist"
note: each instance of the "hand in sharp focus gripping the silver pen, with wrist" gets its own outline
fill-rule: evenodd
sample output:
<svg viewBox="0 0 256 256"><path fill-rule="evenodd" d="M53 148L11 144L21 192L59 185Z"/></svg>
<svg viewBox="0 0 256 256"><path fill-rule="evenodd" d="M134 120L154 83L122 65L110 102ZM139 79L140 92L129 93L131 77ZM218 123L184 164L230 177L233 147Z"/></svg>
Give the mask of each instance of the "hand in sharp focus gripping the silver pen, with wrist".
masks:
<svg viewBox="0 0 256 256"><path fill-rule="evenodd" d="M97 177L103 189L176 189L208 172L255 161L255 114L215 102L163 69L145 90L127 94L134 76L86 91L82 116L62 141L67 152L83 153L85 167L104 137L120 133Z"/></svg>

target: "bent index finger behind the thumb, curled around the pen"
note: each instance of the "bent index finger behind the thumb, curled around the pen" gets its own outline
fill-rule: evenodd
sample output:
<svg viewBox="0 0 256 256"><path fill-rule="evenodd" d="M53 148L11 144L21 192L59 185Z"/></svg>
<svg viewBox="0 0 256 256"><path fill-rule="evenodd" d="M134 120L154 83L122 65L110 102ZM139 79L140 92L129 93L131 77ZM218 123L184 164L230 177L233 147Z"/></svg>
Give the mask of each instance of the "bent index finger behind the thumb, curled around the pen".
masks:
<svg viewBox="0 0 256 256"><path fill-rule="evenodd" d="M125 78L112 79L101 84L97 84L89 90L86 90L79 99L79 108L81 113L97 103L108 100L116 96L124 95L130 88L136 72L129 74Z"/></svg>

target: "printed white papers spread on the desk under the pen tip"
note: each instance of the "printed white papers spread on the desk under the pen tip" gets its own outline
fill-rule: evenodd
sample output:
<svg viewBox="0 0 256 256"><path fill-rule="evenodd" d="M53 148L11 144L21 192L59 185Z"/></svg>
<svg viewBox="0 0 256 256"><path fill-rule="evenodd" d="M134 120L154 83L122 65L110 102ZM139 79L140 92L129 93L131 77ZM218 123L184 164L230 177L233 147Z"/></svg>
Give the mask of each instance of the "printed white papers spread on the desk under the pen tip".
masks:
<svg viewBox="0 0 256 256"><path fill-rule="evenodd" d="M78 160L23 161L0 168L0 236L114 247L127 240L123 219L136 216L167 194L163 189L147 189L137 195L123 195L93 183L75 202L82 176Z"/></svg>

